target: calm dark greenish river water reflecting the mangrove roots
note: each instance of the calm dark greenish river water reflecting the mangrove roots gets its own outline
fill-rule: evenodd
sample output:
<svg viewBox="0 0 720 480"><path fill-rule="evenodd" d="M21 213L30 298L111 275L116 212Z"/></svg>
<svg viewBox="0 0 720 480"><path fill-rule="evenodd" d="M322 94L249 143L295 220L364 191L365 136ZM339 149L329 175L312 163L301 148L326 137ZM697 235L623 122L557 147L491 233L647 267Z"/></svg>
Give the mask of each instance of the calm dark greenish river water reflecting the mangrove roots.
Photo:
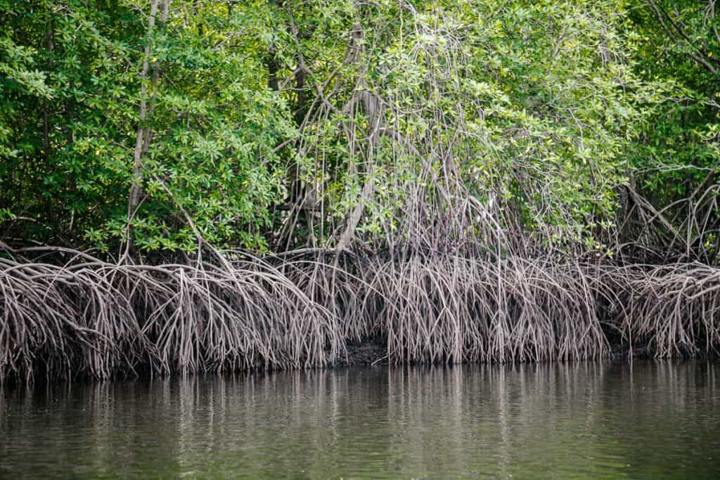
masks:
<svg viewBox="0 0 720 480"><path fill-rule="evenodd" d="M3 479L719 479L720 364L5 389Z"/></svg>

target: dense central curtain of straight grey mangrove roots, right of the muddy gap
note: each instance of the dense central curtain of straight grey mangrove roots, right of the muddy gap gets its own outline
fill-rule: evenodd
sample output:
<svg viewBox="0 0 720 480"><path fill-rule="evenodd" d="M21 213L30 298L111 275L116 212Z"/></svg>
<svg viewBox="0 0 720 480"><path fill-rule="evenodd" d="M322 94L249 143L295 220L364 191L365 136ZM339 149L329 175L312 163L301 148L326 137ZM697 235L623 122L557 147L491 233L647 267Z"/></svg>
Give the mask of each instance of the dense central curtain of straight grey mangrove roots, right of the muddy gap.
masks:
<svg viewBox="0 0 720 480"><path fill-rule="evenodd" d="M308 263L305 291L351 340L382 338L391 361L547 361L606 356L590 282L580 266L451 255L364 258L341 272ZM333 278L331 287L328 277ZM321 284L322 287L319 287Z"/></svg>

